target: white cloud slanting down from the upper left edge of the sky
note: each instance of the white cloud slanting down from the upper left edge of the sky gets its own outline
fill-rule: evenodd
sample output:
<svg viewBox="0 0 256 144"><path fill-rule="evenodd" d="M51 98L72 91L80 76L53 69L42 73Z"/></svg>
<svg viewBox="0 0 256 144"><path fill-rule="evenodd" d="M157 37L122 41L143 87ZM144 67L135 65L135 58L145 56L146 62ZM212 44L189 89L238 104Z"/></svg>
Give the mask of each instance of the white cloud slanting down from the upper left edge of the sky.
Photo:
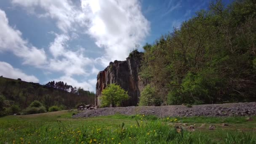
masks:
<svg viewBox="0 0 256 144"><path fill-rule="evenodd" d="M6 14L1 9L0 29L0 52L11 51L16 56L23 58L24 64L39 66L45 63L45 51L29 45L27 40L23 40L21 32L9 26Z"/></svg>

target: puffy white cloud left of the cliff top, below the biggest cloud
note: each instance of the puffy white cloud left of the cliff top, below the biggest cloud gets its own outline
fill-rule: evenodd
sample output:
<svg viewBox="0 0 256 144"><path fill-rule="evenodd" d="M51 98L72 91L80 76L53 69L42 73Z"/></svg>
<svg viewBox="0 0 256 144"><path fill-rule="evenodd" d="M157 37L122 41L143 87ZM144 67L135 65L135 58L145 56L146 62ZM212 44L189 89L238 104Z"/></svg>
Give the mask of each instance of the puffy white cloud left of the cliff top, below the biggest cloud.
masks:
<svg viewBox="0 0 256 144"><path fill-rule="evenodd" d="M91 66L93 60L83 56L82 48L78 51L70 51L67 48L69 39L70 37L67 35L56 34L54 42L49 47L54 58L50 59L46 68L51 71L64 72L66 76L88 75L91 72L87 72L85 67Z"/></svg>

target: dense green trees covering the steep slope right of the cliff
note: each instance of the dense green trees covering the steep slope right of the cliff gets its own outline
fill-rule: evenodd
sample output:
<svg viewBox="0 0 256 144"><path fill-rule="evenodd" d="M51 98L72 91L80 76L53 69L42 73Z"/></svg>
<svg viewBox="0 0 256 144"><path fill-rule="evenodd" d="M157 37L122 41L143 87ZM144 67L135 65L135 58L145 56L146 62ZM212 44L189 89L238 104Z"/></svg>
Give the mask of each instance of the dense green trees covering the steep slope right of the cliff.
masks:
<svg viewBox="0 0 256 144"><path fill-rule="evenodd" d="M256 100L255 0L217 0L144 51L140 75L164 104Z"/></svg>

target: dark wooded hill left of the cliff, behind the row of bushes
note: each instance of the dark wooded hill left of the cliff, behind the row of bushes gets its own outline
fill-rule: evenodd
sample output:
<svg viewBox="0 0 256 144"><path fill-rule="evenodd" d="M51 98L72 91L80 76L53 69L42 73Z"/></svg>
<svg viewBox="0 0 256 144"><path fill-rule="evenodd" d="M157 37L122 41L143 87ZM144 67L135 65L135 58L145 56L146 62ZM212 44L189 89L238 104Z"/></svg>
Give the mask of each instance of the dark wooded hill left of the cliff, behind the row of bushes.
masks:
<svg viewBox="0 0 256 144"><path fill-rule="evenodd" d="M21 79L0 77L0 95L5 97L9 106L15 104L21 109L25 109L35 100L40 101L46 109L53 105L63 109L71 109L81 103L94 104L95 94L84 91L83 88L71 86L72 91L70 92L67 89L65 91L48 85L25 82Z"/></svg>

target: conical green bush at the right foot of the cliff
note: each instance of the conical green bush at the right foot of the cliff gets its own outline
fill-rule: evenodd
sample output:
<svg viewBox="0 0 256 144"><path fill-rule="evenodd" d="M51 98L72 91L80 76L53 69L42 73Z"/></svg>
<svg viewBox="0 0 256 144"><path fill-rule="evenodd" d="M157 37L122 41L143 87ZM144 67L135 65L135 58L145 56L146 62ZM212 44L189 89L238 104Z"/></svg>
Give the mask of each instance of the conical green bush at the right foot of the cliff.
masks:
<svg viewBox="0 0 256 144"><path fill-rule="evenodd" d="M146 85L143 91L141 92L141 96L139 97L139 106L160 106L160 99L156 98L155 87L151 87L151 85Z"/></svg>

